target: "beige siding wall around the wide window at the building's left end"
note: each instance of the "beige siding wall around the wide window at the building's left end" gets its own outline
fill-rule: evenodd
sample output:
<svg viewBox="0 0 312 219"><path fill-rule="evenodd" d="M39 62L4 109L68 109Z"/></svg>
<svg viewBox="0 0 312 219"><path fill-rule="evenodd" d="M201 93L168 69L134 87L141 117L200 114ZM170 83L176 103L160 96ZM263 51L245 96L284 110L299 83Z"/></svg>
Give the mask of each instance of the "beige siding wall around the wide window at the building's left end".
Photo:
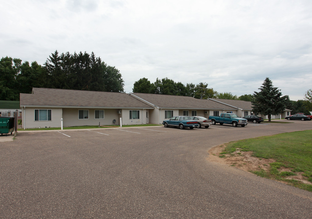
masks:
<svg viewBox="0 0 312 219"><path fill-rule="evenodd" d="M51 121L35 121L35 109L51 109ZM62 108L26 107L23 112L23 128L61 127Z"/></svg>

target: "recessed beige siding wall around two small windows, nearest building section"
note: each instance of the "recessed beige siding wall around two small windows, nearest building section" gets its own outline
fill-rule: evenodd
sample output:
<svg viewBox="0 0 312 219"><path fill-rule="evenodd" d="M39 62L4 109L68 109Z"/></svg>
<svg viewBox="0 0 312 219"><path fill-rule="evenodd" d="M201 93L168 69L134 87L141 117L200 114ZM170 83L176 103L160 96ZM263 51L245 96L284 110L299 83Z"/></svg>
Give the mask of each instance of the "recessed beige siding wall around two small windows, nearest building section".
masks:
<svg viewBox="0 0 312 219"><path fill-rule="evenodd" d="M88 119L78 119L78 110L89 110ZM95 110L104 110L104 119L95 119ZM112 125L116 119L116 125L119 125L118 109L78 109L63 108L63 126L82 126L82 125Z"/></svg>

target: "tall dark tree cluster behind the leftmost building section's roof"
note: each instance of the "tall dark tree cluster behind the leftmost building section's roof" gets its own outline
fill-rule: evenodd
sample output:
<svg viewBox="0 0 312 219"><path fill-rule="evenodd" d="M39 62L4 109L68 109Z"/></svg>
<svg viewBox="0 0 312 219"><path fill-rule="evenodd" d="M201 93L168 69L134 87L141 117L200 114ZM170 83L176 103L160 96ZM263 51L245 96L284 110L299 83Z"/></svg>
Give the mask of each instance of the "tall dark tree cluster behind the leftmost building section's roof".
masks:
<svg viewBox="0 0 312 219"><path fill-rule="evenodd" d="M0 60L0 100L19 100L20 93L31 93L33 87L124 92L124 80L115 66L108 66L92 52L47 58L43 66L21 59Z"/></svg>

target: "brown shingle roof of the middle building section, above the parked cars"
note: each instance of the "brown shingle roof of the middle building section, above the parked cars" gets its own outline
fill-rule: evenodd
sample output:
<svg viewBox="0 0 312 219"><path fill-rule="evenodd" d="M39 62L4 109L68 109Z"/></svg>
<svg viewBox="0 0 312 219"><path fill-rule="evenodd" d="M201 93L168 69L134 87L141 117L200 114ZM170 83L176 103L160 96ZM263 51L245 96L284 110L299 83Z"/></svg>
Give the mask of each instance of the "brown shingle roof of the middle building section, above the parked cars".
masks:
<svg viewBox="0 0 312 219"><path fill-rule="evenodd" d="M193 97L130 93L155 107L167 109L233 109L227 105L217 103L213 100L200 100Z"/></svg>

